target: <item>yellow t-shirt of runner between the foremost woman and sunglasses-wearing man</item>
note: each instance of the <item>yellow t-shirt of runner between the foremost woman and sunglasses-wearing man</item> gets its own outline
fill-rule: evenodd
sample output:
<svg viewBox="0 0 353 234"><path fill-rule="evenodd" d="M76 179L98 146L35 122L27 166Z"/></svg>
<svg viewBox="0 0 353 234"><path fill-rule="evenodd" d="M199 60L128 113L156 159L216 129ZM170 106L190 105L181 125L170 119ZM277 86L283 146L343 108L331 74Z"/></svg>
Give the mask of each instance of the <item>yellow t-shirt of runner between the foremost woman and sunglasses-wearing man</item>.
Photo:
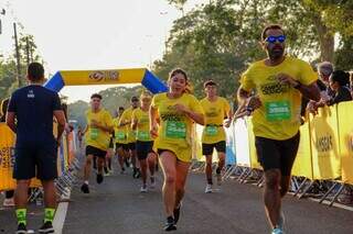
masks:
<svg viewBox="0 0 353 234"><path fill-rule="evenodd" d="M216 101L211 102L207 98L204 98L200 103L205 113L205 126L202 132L202 143L214 144L225 141L223 121L231 110L227 100L222 97L217 97Z"/></svg>

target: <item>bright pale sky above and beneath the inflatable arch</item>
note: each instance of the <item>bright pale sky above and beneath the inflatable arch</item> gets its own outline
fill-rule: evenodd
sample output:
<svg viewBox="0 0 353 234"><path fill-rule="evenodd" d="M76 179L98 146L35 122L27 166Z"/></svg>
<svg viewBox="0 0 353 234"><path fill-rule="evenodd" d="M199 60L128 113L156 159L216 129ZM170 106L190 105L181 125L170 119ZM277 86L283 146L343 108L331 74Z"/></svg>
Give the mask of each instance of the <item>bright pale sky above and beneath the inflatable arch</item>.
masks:
<svg viewBox="0 0 353 234"><path fill-rule="evenodd" d="M10 3L9 3L10 2ZM186 10L204 0L190 0ZM0 52L12 53L13 21L34 35L46 71L149 67L162 57L181 12L168 0L0 0ZM107 87L66 87L69 102Z"/></svg>

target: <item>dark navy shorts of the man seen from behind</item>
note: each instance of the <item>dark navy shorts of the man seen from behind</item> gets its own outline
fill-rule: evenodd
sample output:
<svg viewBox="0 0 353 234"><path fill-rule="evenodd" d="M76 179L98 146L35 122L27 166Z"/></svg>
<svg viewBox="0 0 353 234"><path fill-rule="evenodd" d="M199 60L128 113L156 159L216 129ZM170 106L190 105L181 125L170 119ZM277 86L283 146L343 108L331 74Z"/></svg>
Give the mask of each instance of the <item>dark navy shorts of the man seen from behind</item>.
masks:
<svg viewBox="0 0 353 234"><path fill-rule="evenodd" d="M57 146L19 146L15 147L14 155L14 179L26 180L36 177L40 180L53 180L57 178Z"/></svg>

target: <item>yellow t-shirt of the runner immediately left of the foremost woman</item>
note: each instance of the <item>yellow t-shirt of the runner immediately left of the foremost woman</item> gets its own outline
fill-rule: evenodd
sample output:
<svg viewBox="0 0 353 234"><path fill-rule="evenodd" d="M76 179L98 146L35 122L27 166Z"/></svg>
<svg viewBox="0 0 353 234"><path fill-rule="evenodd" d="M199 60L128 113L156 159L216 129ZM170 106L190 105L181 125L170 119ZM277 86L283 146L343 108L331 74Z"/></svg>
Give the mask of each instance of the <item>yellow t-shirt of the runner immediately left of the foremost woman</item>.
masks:
<svg viewBox="0 0 353 234"><path fill-rule="evenodd" d="M150 116L149 111L142 111L141 108L132 111L132 120L137 120L136 140L141 142L153 141L150 135Z"/></svg>

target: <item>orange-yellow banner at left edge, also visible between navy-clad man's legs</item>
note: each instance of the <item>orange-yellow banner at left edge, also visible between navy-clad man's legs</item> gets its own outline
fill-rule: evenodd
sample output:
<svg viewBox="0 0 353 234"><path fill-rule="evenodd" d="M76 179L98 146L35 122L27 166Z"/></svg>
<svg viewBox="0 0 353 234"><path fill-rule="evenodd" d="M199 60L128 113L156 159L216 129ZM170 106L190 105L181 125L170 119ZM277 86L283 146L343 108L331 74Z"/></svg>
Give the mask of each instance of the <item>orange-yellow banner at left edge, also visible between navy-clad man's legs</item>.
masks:
<svg viewBox="0 0 353 234"><path fill-rule="evenodd" d="M0 191L15 189L12 178L14 164L15 134L6 123L0 123ZM31 187L41 187L41 181L32 179Z"/></svg>

